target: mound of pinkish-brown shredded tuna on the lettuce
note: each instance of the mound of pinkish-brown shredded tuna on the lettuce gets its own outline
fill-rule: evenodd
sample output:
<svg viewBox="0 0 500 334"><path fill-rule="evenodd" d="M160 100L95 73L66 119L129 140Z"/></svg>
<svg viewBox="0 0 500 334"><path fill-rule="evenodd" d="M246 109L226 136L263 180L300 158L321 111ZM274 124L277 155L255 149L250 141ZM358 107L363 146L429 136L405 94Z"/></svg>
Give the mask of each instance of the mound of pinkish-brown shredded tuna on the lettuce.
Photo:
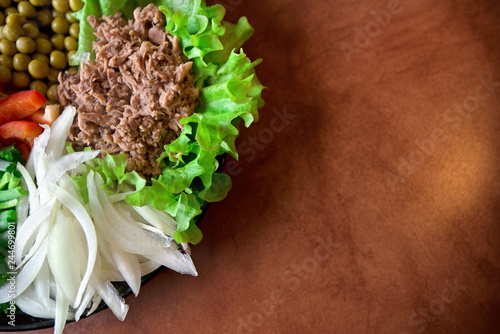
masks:
<svg viewBox="0 0 500 334"><path fill-rule="evenodd" d="M128 155L127 170L145 177L161 173L156 161L193 114L198 101L192 63L179 41L165 31L165 16L154 5L96 19L95 62L59 76L57 96L77 108L69 139L109 154Z"/></svg>

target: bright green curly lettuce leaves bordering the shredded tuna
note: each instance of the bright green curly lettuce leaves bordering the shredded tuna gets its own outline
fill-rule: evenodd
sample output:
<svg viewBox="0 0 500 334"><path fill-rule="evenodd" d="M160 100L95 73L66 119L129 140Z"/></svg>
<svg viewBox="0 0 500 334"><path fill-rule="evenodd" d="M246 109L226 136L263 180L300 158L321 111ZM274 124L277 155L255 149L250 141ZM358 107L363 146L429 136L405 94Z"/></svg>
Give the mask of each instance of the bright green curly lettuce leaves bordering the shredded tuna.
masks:
<svg viewBox="0 0 500 334"><path fill-rule="evenodd" d="M261 60L252 62L241 50L253 28L245 17L236 24L223 21L224 7L207 6L203 0L84 0L84 3L75 14L80 20L80 39L74 59L82 59L84 53L92 54L95 37L86 22L87 16L100 17L120 11L125 18L132 18L135 8L154 3L166 16L166 30L177 36L184 54L193 62L200 104L192 116L180 121L184 126L181 135L165 146L159 158L161 175L145 186L136 187L137 191L128 195L126 201L166 211L177 221L175 240L197 244L202 238L195 224L201 206L224 199L231 188L231 178L217 172L218 157L227 153L238 158L235 140L239 124L242 120L248 127L258 121L258 109L264 105L261 98L264 86L255 74Z"/></svg>

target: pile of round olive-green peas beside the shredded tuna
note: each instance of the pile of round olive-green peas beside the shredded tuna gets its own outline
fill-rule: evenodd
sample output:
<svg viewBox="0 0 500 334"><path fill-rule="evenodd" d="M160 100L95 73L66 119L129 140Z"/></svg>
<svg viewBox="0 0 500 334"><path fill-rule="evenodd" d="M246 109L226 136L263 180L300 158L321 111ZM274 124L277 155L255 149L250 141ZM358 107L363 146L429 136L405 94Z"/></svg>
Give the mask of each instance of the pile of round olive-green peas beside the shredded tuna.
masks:
<svg viewBox="0 0 500 334"><path fill-rule="evenodd" d="M0 85L55 101L57 76L78 48L82 0L0 0Z"/></svg>

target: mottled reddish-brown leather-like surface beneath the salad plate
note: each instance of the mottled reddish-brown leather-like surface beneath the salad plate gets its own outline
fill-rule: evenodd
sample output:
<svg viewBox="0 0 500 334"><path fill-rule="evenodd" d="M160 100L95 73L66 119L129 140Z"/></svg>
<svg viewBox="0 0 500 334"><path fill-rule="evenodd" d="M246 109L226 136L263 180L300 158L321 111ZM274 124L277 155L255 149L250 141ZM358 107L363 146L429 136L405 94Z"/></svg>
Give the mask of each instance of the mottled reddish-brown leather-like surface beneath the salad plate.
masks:
<svg viewBox="0 0 500 334"><path fill-rule="evenodd" d="M269 90L199 277L67 332L500 333L500 3L220 2Z"/></svg>

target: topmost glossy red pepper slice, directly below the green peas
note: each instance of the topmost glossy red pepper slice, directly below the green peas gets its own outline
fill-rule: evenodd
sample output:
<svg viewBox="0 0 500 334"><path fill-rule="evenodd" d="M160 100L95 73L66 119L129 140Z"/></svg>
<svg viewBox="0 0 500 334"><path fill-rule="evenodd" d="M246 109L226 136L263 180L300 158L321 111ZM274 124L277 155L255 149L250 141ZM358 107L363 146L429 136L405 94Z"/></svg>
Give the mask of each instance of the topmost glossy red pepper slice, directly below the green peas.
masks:
<svg viewBox="0 0 500 334"><path fill-rule="evenodd" d="M47 99L36 90L9 95L0 101L0 125L25 118L43 106Z"/></svg>

